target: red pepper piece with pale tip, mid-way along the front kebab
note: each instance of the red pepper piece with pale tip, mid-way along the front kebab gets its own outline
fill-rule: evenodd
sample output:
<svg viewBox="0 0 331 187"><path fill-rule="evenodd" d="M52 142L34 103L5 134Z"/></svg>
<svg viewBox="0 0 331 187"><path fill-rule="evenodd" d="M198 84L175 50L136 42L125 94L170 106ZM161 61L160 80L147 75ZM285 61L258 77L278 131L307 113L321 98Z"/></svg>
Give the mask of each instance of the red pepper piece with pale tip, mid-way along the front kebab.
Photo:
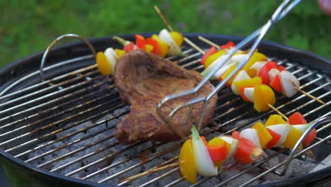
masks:
<svg viewBox="0 0 331 187"><path fill-rule="evenodd" d="M249 164L261 157L264 153L262 149L257 147L252 141L240 137L240 133L237 131L232 132L232 137L238 140L238 148L233 154L233 158L239 164Z"/></svg>

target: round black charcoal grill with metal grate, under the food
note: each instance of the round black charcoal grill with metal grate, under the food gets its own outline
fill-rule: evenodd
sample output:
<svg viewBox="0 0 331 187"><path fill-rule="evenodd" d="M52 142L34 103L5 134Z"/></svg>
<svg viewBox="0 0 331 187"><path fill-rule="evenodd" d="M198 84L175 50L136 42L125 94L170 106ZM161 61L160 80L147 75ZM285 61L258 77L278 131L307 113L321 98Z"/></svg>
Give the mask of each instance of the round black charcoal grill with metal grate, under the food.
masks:
<svg viewBox="0 0 331 187"><path fill-rule="evenodd" d="M203 50L209 47L197 40L197 34L185 36ZM202 36L219 44L243 39L223 35ZM134 40L134 35L121 37ZM89 41L96 51L107 47L120 48L111 38ZM182 50L185 57L169 59L187 69L202 72L203 67L199 64L202 55L187 45ZM262 42L259 50L295 74L301 81L301 89L326 103L323 106L301 94L293 98L277 95L275 106L279 111L285 115L300 111L308 121L330 115L329 60L274 42ZM47 57L47 67L43 69L46 81L41 81L39 76L42 54L25 57L0 70L0 158L14 183L19 186L190 185L178 174L176 167L150 174L149 179L142 176L134 181L121 182L121 179L141 171L177 162L182 142L121 145L115 140L112 130L119 118L129 111L123 108L112 77L105 78L96 69L91 50L83 42L55 47ZM119 108L122 109L117 110ZM270 114L272 111L257 113L251 103L243 102L230 89L223 89L219 92L213 121L204 128L203 134L209 139L228 134L232 130L246 128L256 120L264 120ZM319 126L313 144L297 152L294 161L307 159L307 152L313 152L316 162L329 156L330 125ZM98 128L100 126L103 128ZM83 143L87 140L91 141ZM42 150L45 151L40 152ZM290 179L279 176L280 181L262 183L270 174L279 175L284 165L282 161L286 161L289 151L272 149L267 153L266 157L241 169L238 169L238 164L229 163L219 171L219 176L199 179L192 186L233 185L233 181L241 178L247 181L244 185L318 186L327 183L331 177L331 165L328 165L315 173ZM70 160L72 157L76 159ZM276 165L270 164L276 157L283 160ZM236 174L231 172L234 169L238 169ZM250 174L250 179L246 178L247 174Z"/></svg>

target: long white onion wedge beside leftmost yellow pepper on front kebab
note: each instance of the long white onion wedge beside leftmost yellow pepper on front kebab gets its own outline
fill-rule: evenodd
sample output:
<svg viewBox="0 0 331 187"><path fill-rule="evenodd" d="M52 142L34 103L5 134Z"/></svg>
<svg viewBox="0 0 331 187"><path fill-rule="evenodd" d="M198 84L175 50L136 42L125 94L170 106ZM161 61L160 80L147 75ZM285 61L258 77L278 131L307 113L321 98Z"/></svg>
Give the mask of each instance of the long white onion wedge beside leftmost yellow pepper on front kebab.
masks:
<svg viewBox="0 0 331 187"><path fill-rule="evenodd" d="M214 166L208 149L204 145L204 142L202 142L199 132L197 132L197 128L194 125L192 125L192 147L194 159L197 164L197 173L202 176L216 176L217 167Z"/></svg>

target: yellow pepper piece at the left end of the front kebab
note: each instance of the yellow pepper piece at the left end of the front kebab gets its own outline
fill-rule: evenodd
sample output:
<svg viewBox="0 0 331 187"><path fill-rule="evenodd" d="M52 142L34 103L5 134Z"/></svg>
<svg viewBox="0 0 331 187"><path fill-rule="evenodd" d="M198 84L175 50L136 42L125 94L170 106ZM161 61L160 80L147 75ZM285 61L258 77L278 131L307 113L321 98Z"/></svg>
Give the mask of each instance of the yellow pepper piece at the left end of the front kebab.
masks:
<svg viewBox="0 0 331 187"><path fill-rule="evenodd" d="M180 172L190 183L197 182L197 166L193 157L192 139L186 140L180 149Z"/></svg>

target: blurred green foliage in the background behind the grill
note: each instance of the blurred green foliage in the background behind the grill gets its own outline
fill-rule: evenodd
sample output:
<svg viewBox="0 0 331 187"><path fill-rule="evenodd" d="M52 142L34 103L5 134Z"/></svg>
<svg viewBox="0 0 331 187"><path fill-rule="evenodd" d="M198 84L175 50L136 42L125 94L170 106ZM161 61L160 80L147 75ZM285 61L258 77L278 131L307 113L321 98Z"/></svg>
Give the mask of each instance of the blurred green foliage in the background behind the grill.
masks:
<svg viewBox="0 0 331 187"><path fill-rule="evenodd" d="M165 28L153 5L182 33L247 36L264 24L281 1L214 0L2 0L0 67L45 50L57 36L84 38L124 33L151 33ZM331 17L317 1L302 1L272 28L265 40L309 50L331 59Z"/></svg>

